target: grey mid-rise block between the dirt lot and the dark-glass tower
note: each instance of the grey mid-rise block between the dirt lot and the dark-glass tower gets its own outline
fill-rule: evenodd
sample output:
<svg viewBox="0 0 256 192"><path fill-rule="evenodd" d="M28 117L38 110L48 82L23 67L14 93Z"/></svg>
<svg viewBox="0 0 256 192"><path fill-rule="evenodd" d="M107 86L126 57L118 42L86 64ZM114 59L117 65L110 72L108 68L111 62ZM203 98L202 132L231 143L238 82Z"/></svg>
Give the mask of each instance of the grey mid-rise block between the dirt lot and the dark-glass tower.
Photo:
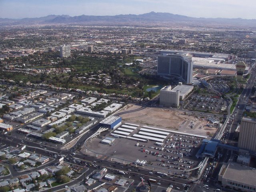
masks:
<svg viewBox="0 0 256 192"><path fill-rule="evenodd" d="M180 91L172 90L171 86L165 86L160 90L160 105L164 107L178 107L180 104Z"/></svg>

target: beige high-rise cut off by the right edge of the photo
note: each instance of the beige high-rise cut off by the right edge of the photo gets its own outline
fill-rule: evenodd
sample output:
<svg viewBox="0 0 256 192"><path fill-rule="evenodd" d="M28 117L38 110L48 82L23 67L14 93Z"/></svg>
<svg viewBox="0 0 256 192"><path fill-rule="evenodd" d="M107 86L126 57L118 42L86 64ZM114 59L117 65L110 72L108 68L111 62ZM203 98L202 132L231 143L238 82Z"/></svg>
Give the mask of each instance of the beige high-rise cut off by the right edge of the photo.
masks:
<svg viewBox="0 0 256 192"><path fill-rule="evenodd" d="M242 118L238 147L256 152L256 119Z"/></svg>

